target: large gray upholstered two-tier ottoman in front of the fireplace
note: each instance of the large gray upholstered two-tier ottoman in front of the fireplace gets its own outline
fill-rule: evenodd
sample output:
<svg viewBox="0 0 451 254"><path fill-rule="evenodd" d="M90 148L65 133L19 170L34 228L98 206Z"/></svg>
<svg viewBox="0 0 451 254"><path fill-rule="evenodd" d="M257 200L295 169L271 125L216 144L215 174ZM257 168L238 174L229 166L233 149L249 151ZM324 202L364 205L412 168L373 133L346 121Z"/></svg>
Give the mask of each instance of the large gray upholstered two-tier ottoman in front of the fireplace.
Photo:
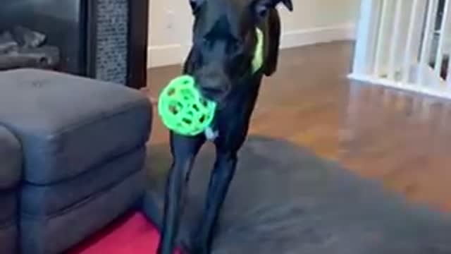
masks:
<svg viewBox="0 0 451 254"><path fill-rule="evenodd" d="M22 69L0 73L0 122L24 152L20 246L61 253L144 191L152 106L121 85Z"/></svg>

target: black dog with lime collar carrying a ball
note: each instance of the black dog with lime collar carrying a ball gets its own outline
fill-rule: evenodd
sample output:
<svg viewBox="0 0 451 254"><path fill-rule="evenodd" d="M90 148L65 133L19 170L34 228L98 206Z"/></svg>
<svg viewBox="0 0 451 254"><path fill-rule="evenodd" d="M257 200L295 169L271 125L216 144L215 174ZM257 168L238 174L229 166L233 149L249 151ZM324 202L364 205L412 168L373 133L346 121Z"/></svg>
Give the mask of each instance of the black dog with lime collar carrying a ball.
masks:
<svg viewBox="0 0 451 254"><path fill-rule="evenodd" d="M183 210L187 181L200 147L216 146L202 220L192 235L190 254L209 254L213 232L235 174L237 152L244 143L261 79L278 63L280 17L276 9L291 0L191 0L193 43L184 66L204 97L217 102L211 131L216 135L171 133L173 164L166 183L158 254L172 254Z"/></svg>

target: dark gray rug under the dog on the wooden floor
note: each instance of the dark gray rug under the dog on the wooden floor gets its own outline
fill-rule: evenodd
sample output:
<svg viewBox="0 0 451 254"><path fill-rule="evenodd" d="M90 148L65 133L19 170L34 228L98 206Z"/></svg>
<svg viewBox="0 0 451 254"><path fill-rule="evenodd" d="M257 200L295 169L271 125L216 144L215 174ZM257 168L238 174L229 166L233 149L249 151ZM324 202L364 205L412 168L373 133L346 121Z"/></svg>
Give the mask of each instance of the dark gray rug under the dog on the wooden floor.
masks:
<svg viewBox="0 0 451 254"><path fill-rule="evenodd" d="M167 147L150 147L147 211L155 221L171 162ZM180 239L194 228L214 150L197 159ZM427 170L427 169L425 169ZM249 138L221 217L216 254L451 253L451 219L409 205L340 165L282 140Z"/></svg>

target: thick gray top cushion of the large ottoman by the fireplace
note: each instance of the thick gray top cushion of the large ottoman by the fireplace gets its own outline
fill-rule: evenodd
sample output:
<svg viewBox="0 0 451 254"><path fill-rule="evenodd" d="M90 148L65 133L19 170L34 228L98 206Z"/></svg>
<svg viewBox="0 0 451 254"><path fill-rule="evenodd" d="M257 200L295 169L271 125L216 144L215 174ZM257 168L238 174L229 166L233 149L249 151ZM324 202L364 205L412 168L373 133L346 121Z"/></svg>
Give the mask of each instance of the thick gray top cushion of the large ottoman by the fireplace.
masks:
<svg viewBox="0 0 451 254"><path fill-rule="evenodd" d="M30 183L70 179L149 138L152 106L137 90L33 69L0 80L0 122L23 145Z"/></svg>

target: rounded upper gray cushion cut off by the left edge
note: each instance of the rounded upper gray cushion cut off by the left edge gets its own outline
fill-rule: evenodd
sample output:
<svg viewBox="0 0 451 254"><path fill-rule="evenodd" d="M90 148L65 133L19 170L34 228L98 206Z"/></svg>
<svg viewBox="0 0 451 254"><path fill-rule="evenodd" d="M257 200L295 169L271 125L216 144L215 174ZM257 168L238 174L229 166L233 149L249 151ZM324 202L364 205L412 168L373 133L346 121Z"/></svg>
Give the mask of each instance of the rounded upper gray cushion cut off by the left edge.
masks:
<svg viewBox="0 0 451 254"><path fill-rule="evenodd" d="M21 170L20 144L11 132L0 126L0 190L13 188L20 181Z"/></svg>

